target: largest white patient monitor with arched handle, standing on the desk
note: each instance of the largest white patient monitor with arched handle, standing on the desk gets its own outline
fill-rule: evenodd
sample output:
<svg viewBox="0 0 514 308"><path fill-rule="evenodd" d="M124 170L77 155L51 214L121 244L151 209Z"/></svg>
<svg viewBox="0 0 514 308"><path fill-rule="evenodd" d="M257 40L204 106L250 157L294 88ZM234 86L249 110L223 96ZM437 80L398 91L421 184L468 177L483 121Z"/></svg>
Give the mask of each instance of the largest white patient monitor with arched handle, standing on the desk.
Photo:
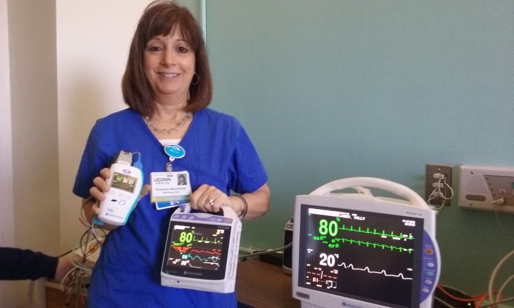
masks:
<svg viewBox="0 0 514 308"><path fill-rule="evenodd" d="M294 217L292 295L302 307L432 307L440 270L435 211L408 187L337 180L296 196Z"/></svg>

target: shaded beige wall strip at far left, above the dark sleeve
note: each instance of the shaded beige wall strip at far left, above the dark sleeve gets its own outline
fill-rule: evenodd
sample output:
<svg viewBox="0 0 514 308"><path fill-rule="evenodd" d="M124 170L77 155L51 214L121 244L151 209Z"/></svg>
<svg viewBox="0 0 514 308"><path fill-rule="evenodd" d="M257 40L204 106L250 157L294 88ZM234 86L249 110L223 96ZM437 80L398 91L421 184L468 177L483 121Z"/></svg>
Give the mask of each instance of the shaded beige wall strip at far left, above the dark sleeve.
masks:
<svg viewBox="0 0 514 308"><path fill-rule="evenodd" d="M8 0L16 245L57 253L57 69L53 0ZM34 235L43 234L43 239Z"/></svg>

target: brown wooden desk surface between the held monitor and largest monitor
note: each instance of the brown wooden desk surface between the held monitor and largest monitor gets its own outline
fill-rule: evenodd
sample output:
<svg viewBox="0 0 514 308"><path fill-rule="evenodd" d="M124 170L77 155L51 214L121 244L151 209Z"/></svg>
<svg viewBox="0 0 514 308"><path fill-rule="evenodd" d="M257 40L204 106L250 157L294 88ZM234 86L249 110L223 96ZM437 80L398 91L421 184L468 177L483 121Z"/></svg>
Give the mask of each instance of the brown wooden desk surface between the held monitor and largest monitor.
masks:
<svg viewBox="0 0 514 308"><path fill-rule="evenodd" d="M291 275L281 266L246 260L237 264L235 291L237 300L259 307L300 307L292 297Z"/></svg>

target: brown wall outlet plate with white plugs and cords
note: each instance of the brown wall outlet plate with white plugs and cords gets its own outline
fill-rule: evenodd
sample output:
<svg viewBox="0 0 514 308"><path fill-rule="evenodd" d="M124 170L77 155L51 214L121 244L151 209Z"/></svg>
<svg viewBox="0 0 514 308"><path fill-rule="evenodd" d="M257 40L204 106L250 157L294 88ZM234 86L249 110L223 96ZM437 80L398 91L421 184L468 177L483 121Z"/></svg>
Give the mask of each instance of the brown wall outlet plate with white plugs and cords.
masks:
<svg viewBox="0 0 514 308"><path fill-rule="evenodd" d="M451 165L427 164L425 200L430 205L450 205L451 171Z"/></svg>

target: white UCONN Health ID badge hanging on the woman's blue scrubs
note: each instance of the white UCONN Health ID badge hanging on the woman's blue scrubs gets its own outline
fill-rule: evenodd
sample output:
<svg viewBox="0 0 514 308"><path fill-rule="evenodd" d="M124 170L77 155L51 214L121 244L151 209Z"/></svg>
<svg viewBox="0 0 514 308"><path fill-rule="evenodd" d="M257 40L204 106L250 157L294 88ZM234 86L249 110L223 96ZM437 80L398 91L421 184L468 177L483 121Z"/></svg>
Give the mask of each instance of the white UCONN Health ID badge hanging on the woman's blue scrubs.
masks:
<svg viewBox="0 0 514 308"><path fill-rule="evenodd" d="M189 202L191 186L187 171L152 172L150 186L150 201L157 209Z"/></svg>

